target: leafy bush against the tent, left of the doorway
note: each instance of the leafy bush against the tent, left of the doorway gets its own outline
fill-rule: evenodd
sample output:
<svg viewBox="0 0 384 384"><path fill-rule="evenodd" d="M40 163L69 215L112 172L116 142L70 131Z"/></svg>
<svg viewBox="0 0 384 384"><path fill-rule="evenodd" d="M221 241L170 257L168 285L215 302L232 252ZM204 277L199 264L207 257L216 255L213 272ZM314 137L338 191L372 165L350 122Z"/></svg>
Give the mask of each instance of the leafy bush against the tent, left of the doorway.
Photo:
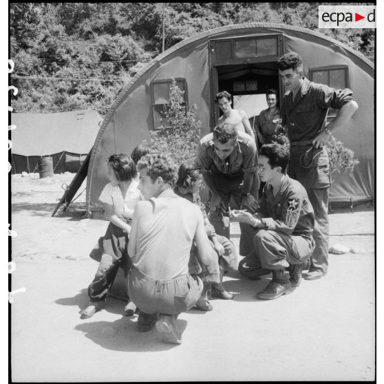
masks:
<svg viewBox="0 0 384 384"><path fill-rule="evenodd" d="M202 127L202 122L195 117L196 105L187 111L183 95L184 91L173 78L169 87L169 103L163 109L163 125L149 132L151 149L171 156L178 165L195 160Z"/></svg>

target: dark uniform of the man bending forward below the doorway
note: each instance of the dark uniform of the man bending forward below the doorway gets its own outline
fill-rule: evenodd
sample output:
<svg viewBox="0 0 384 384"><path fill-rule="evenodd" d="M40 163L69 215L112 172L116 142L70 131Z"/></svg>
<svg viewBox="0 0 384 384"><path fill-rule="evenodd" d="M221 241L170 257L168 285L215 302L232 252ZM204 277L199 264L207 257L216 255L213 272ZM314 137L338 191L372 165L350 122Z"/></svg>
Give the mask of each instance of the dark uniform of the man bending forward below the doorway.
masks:
<svg viewBox="0 0 384 384"><path fill-rule="evenodd" d="M236 208L239 208L244 193L243 181L245 173L256 174L257 149L255 140L244 132L238 132L235 149L228 158L222 160L217 156L213 145L213 134L208 134L200 140L197 153L198 165L205 171L210 171L215 189L219 193L224 207L209 212L209 222L215 228L217 235L229 239L229 202L233 198ZM258 185L250 185L258 191ZM240 224L240 229L244 224ZM240 237L240 254L246 255L243 248L246 240L244 235Z"/></svg>

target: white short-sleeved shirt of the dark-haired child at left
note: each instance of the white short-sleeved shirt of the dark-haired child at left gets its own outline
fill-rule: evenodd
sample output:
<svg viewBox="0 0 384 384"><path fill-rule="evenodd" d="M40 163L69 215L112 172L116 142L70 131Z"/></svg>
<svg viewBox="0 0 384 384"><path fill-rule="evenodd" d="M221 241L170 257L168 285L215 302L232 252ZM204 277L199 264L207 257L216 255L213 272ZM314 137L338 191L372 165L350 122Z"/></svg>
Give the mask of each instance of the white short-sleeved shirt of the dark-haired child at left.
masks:
<svg viewBox="0 0 384 384"><path fill-rule="evenodd" d="M134 217L135 206L141 200L141 193L138 190L138 181L131 181L125 198L122 197L120 186L117 184L113 185L109 182L105 185L98 200L103 204L113 206L114 213L117 217L124 218L125 220L132 219L132 217Z"/></svg>

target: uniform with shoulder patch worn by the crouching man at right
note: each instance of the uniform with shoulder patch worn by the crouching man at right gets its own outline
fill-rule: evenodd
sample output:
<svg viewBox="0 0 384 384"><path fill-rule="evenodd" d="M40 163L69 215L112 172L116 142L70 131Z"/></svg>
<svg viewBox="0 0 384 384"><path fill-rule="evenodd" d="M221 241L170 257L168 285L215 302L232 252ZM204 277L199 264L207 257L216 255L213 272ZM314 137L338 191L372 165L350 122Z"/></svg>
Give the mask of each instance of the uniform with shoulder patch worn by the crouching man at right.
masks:
<svg viewBox="0 0 384 384"><path fill-rule="evenodd" d="M284 175L281 188L273 195L270 184L264 187L255 215L263 228L253 228L255 250L239 263L239 272L250 279L265 273L263 268L280 270L303 264L312 255L314 214L306 189Z"/></svg>

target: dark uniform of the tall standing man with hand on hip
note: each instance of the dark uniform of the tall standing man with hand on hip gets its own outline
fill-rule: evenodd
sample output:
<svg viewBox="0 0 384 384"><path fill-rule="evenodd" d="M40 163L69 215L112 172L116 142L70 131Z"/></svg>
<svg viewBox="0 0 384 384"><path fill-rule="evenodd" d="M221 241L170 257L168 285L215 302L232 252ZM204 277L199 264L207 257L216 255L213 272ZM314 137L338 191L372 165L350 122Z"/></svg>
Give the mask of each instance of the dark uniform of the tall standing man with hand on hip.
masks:
<svg viewBox="0 0 384 384"><path fill-rule="evenodd" d="M340 109L352 100L348 88L337 90L303 78L295 100L287 92L280 109L291 145L288 175L303 184L314 209L316 247L310 272L319 270L324 275L328 269L330 160L325 147L314 149L312 140L324 129L328 108Z"/></svg>

